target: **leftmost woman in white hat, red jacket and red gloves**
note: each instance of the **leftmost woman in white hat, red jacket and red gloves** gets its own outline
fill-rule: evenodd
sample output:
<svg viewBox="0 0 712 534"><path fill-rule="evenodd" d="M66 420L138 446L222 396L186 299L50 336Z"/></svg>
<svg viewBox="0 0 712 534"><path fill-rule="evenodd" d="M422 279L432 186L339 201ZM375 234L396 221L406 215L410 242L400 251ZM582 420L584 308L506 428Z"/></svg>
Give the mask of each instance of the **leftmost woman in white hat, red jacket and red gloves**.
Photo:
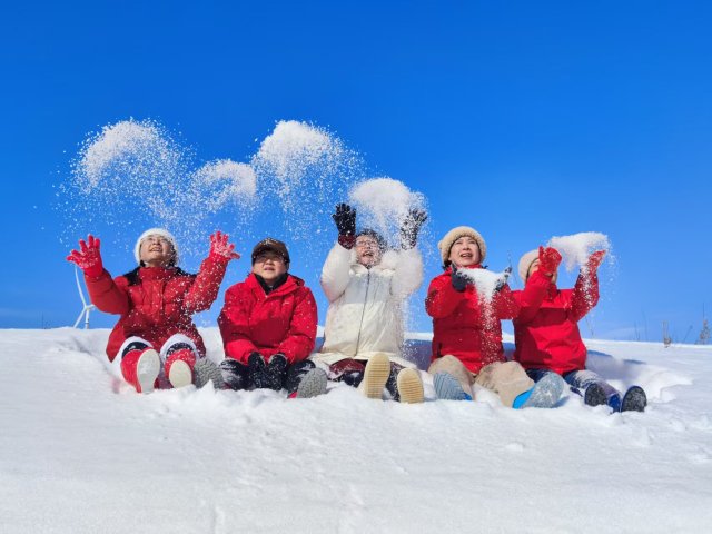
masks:
<svg viewBox="0 0 712 534"><path fill-rule="evenodd" d="M210 308L217 298L228 261L239 258L235 245L216 231L210 236L209 256L198 275L191 275L178 268L174 236L151 228L136 241L138 267L113 279L103 268L100 247L100 240L90 235L87 241L79 240L80 250L71 250L67 259L83 270L91 303L121 316L107 345L117 374L139 393L150 393L157 385L194 383L205 345L190 316Z"/></svg>

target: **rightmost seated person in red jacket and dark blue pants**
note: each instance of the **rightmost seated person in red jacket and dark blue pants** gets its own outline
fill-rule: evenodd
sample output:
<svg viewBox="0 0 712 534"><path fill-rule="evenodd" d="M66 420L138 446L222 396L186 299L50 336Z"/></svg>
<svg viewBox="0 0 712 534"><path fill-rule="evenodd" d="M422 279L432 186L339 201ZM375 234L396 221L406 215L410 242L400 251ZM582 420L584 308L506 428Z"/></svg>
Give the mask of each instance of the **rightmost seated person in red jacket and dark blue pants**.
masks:
<svg viewBox="0 0 712 534"><path fill-rule="evenodd" d="M647 400L641 387L632 386L621 399L613 386L586 369L586 347L577 323L599 303L597 270L604 256L605 250L599 250L589 257L573 289L556 287L558 253L551 264L542 258L542 247L522 256L518 271L526 287L543 268L552 275L544 298L523 305L513 320L514 359L534 380L552 373L563 376L568 385L583 392L584 402L590 406L607 404L614 411L642 412ZM514 291L515 296L522 293Z"/></svg>

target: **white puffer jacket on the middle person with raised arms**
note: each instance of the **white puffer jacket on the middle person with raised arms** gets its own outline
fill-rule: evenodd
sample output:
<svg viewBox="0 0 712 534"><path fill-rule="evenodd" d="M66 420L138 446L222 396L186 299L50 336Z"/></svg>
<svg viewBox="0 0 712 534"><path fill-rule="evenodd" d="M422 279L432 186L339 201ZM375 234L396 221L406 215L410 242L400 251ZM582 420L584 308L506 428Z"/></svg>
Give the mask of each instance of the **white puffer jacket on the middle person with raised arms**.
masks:
<svg viewBox="0 0 712 534"><path fill-rule="evenodd" d="M356 251L336 244L322 269L322 288L329 300L324 346L313 359L334 364L345 358L368 359L385 353L405 367L400 357L403 301L423 283L423 258L416 248L388 250L367 269Z"/></svg>

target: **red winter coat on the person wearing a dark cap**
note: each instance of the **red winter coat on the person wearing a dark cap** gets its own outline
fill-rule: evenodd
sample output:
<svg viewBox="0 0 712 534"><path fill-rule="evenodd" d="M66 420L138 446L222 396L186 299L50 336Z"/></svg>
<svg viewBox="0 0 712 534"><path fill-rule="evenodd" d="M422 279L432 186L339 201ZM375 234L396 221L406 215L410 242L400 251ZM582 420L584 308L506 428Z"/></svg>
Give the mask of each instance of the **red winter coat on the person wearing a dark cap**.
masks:
<svg viewBox="0 0 712 534"><path fill-rule="evenodd" d="M314 295L291 275L266 295L250 274L227 290L218 317L225 355L243 364L253 352L266 359L281 353L293 364L305 359L314 349L316 322Z"/></svg>

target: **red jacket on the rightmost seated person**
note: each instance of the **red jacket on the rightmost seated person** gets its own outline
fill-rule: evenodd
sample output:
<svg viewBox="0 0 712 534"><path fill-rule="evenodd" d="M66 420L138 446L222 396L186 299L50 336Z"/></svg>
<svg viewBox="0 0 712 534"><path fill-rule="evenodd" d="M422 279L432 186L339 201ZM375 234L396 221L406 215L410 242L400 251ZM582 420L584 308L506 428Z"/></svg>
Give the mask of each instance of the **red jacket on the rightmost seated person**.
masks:
<svg viewBox="0 0 712 534"><path fill-rule="evenodd" d="M524 306L513 322L514 359L527 369L550 369L558 374L584 369L586 347L577 323L597 303L595 274L580 275L573 289L560 290L550 284L541 305Z"/></svg>

